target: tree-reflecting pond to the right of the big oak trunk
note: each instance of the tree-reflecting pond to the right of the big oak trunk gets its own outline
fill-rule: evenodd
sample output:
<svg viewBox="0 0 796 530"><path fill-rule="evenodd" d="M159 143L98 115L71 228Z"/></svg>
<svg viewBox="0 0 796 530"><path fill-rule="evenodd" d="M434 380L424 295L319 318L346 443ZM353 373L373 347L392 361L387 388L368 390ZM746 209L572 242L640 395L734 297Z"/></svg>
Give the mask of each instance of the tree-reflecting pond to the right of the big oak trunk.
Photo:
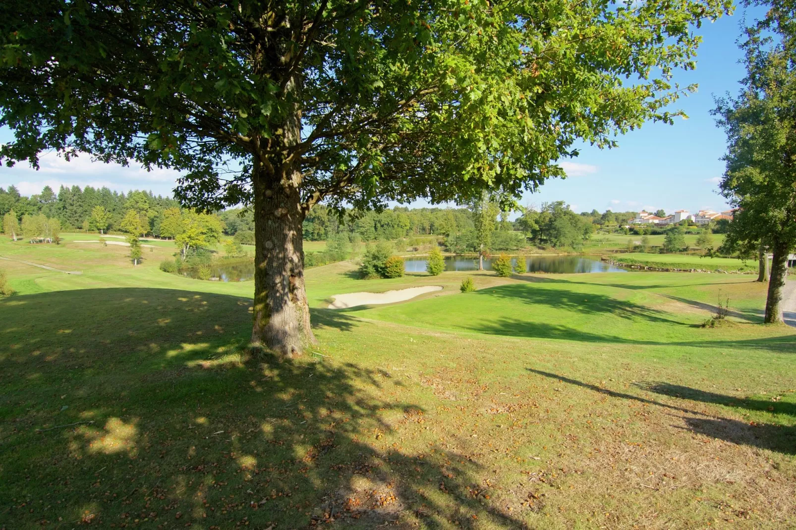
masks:
<svg viewBox="0 0 796 530"><path fill-rule="evenodd" d="M492 270L492 259L484 259L484 270ZM511 259L512 266L517 259L525 259L526 272L549 272L572 274L581 272L626 272L621 267L600 261L598 255L521 255ZM426 259L408 258L405 260L407 272L425 272ZM445 257L446 271L478 271L478 257L469 255L450 255Z"/></svg>

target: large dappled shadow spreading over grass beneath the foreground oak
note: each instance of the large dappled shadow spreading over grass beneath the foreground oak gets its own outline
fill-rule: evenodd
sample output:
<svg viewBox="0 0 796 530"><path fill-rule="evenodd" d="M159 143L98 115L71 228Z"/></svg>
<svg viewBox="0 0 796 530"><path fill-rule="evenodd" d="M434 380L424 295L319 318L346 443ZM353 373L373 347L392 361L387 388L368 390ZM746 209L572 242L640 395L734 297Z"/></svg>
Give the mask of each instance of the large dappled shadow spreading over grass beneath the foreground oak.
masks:
<svg viewBox="0 0 796 530"><path fill-rule="evenodd" d="M248 357L249 299L104 289L15 300L0 302L0 369L14 374L0 382L0 479L14 499L0 520L525 527L478 494L489 472L449 450L384 368Z"/></svg>

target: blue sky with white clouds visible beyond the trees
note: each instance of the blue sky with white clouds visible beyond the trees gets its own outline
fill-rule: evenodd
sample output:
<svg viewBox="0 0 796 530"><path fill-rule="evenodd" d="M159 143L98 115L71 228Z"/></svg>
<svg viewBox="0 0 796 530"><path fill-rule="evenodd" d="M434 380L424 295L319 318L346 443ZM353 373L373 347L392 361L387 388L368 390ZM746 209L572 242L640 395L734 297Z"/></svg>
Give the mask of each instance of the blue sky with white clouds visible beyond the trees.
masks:
<svg viewBox="0 0 796 530"><path fill-rule="evenodd" d="M576 212L596 208L616 211L664 208L696 211L726 209L716 193L724 171L720 158L725 150L724 132L710 115L713 95L738 92L743 77L741 53L736 40L741 34L744 15L754 18L758 11L738 8L732 17L706 23L697 30L703 42L697 55L696 70L677 72L674 81L681 86L697 83L699 89L673 105L682 109L688 120L676 119L673 126L647 123L638 131L618 138L619 147L599 150L583 146L580 156L563 164L569 177L545 183L540 191L527 194L524 205L539 206L545 201L566 201ZM10 139L0 132L0 141ZM146 172L137 166L123 168L92 163L88 156L64 162L55 154L45 154L41 170L26 164L0 167L0 186L16 185L24 195L39 193L44 185L58 189L64 185L107 186L118 191L150 189L169 195L177 173L170 170ZM416 205L427 205L424 202Z"/></svg>

